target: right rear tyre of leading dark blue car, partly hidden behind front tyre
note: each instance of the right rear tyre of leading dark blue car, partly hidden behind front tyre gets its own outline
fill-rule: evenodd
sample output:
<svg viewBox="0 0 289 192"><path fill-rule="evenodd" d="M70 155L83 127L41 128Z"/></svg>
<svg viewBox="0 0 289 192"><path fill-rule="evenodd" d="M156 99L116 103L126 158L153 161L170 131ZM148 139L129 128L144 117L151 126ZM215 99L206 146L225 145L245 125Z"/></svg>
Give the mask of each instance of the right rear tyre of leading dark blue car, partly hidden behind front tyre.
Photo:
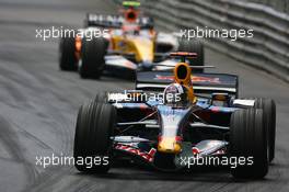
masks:
<svg viewBox="0 0 289 192"><path fill-rule="evenodd" d="M264 125L268 129L269 161L275 157L275 137L276 137L276 104L271 99L255 99L256 109L263 110Z"/></svg>

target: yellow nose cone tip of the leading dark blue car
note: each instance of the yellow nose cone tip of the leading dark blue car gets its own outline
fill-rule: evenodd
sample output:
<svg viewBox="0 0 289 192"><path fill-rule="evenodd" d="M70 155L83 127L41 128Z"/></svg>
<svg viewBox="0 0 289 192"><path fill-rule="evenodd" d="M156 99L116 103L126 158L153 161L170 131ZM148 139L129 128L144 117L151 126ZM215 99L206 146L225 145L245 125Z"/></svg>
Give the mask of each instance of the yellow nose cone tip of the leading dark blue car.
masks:
<svg viewBox="0 0 289 192"><path fill-rule="evenodd" d="M181 153L180 143L173 137L163 137L158 144L158 151L166 154L180 154Z"/></svg>

